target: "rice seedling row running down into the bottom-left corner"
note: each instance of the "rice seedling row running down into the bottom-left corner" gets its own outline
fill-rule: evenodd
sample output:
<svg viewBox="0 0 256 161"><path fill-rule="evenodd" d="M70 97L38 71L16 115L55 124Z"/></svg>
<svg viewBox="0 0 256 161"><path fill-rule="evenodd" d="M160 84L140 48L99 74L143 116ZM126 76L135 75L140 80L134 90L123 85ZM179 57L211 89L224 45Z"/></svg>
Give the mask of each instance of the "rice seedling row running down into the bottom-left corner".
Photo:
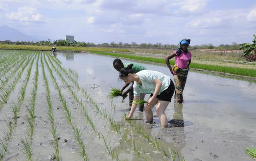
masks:
<svg viewBox="0 0 256 161"><path fill-rule="evenodd" d="M28 63L29 63L29 61L28 61ZM28 65L28 63L26 64L26 66ZM34 58L31 60L30 66L28 67L27 74L25 76L26 80L20 88L20 95L18 96L18 100L17 100L16 103L13 102L12 105L11 105L11 108L12 108L12 111L13 111L13 118L12 118L12 121L10 121L9 124L8 124L9 131L7 131L4 134L4 137L2 137L3 138L2 140L5 140L5 141L4 142L1 141L1 145L4 148L4 153L6 153L7 147L8 147L8 142L10 141L10 138L12 137L13 130L11 130L11 129L13 129L15 127L16 123L17 123L18 112L19 112L20 107L22 106L22 103L24 101L25 91L26 91L26 87L27 87L27 84L28 84L28 80L30 78L30 73L31 73L33 63L34 63ZM26 66L23 66L24 69L26 68ZM22 70L21 73L23 73L24 69ZM4 157L4 153L1 153L1 158L0 159L2 159L2 157Z"/></svg>

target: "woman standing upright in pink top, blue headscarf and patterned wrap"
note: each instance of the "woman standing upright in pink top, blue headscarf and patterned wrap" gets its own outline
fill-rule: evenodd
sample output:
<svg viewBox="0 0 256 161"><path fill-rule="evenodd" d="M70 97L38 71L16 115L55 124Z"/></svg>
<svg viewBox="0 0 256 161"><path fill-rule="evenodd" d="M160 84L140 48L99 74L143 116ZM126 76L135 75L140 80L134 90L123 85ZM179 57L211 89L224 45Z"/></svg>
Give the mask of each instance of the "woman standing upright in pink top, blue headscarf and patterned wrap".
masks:
<svg viewBox="0 0 256 161"><path fill-rule="evenodd" d="M175 95L174 98L176 102L183 102L183 90L186 84L189 65L191 63L191 53L188 51L188 45L190 44L190 39L182 39L180 41L180 47L174 53L168 55L165 58L166 65L170 69L174 77L175 82ZM171 67L169 60L175 57L175 65Z"/></svg>

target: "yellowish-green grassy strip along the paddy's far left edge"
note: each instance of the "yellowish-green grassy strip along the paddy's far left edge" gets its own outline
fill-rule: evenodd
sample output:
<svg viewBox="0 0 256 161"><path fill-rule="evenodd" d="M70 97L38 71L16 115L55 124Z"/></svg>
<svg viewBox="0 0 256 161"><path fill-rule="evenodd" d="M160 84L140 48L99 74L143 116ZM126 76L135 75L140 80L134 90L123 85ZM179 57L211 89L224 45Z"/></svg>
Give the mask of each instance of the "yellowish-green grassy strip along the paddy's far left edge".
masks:
<svg viewBox="0 0 256 161"><path fill-rule="evenodd" d="M36 46L36 45L8 45L0 44L0 49L23 49L23 50L43 50L50 51L51 46ZM127 49L113 49L104 47L67 47L67 46L57 46L58 51L102 51L102 52L129 52Z"/></svg>

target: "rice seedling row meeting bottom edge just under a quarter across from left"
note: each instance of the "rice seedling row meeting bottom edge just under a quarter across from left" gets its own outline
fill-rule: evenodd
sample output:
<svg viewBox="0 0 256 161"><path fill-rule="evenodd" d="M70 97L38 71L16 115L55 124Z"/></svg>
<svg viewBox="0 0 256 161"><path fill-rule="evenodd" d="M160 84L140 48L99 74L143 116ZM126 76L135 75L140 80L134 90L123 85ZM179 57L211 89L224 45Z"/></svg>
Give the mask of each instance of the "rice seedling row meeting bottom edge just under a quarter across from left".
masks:
<svg viewBox="0 0 256 161"><path fill-rule="evenodd" d="M58 135L57 135L57 127L55 125L54 122L54 115L52 112L52 101L51 101L51 97L50 97L50 89L49 89L49 84L48 84L48 79L46 78L46 74L45 74L45 70L44 70L44 63L43 63L43 59L42 59L42 54L41 55L41 64L42 64L42 71L43 71L43 79L44 79L44 84L45 84L45 88L46 88L46 100L47 100L47 104L48 104L48 120L50 120L50 124L51 124L51 129L50 132L52 133L52 136L54 138L54 149L55 149L55 153L53 153L54 157L56 158L57 161L60 161L60 151L59 151L59 143L58 143Z"/></svg>

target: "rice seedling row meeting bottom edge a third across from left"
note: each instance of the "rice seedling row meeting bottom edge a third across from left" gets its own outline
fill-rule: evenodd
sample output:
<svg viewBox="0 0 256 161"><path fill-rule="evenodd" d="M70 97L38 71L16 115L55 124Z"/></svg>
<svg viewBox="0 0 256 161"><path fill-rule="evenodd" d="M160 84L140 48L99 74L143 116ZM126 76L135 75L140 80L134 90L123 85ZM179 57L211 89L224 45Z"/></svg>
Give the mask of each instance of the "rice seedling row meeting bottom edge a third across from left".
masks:
<svg viewBox="0 0 256 161"><path fill-rule="evenodd" d="M48 62L45 59L45 54L43 55L43 57L44 57L44 62L46 63L47 69L50 72L52 80L54 81L54 84L55 84L55 86L56 86L56 88L58 90L59 98L60 98L60 100L62 102L62 106L64 107L64 110L65 110L66 115L67 115L67 122L68 122L68 124L70 124L70 126L71 126L71 128L73 130L73 136L76 139L76 142L77 142L78 148L79 148L79 152L78 153L82 156L82 158L85 161L87 161L88 160L88 156L87 156L86 151L85 151L84 141L82 139L82 132L77 127L76 122L72 121L72 119L71 119L71 112L70 112L68 106L66 105L66 101L65 101L65 99L64 99L64 97L62 95L62 91L61 91L61 89L60 89L60 87L59 87L59 85L58 85L58 83L56 81L56 78L53 75L52 69L50 68L50 66L48 65Z"/></svg>

